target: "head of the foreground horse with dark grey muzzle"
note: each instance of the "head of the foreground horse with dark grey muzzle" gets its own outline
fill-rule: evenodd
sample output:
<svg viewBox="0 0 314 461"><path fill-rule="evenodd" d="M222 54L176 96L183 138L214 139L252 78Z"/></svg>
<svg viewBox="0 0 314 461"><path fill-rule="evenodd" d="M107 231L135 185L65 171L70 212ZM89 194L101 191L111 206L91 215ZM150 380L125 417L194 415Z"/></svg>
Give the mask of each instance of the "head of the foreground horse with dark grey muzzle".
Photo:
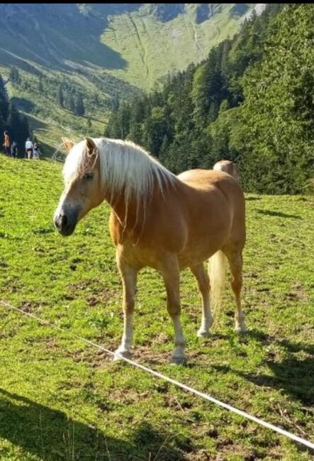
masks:
<svg viewBox="0 0 314 461"><path fill-rule="evenodd" d="M86 138L78 144L64 141L69 150L63 176L65 190L55 211L54 221L62 235L71 235L78 221L103 201L99 168L99 152L94 140Z"/></svg>

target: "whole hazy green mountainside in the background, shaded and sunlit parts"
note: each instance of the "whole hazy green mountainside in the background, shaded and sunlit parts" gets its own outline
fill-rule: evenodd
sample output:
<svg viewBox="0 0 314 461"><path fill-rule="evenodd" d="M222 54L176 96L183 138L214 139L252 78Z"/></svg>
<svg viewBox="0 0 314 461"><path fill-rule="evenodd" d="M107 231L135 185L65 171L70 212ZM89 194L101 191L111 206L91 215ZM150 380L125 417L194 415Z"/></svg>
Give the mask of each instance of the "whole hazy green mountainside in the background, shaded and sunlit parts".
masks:
<svg viewBox="0 0 314 461"><path fill-rule="evenodd" d="M1 4L0 73L48 145L62 133L101 135L118 100L200 62L263 5Z"/></svg>

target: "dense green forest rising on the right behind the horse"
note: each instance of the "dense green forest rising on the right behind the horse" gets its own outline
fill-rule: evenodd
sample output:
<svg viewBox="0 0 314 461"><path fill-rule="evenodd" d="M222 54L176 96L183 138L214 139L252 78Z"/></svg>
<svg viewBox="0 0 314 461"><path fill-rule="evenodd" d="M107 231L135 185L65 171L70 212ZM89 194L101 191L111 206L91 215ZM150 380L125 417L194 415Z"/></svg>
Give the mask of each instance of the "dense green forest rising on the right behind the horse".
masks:
<svg viewBox="0 0 314 461"><path fill-rule="evenodd" d="M161 91L121 101L105 135L173 172L240 167L247 191L301 193L314 176L314 5L267 4Z"/></svg>

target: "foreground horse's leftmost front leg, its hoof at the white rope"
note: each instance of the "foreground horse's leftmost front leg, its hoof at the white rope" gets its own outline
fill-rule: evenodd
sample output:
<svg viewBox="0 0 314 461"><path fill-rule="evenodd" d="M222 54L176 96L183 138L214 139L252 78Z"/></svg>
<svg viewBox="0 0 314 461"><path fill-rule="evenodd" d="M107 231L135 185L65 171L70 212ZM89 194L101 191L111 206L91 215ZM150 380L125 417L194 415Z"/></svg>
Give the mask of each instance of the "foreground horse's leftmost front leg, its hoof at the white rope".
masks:
<svg viewBox="0 0 314 461"><path fill-rule="evenodd" d="M123 357L131 357L131 347L133 345L133 313L135 305L135 290L138 270L126 262L117 252L117 265L123 284L123 314L124 327L120 347L116 354ZM115 360L119 357L116 355Z"/></svg>

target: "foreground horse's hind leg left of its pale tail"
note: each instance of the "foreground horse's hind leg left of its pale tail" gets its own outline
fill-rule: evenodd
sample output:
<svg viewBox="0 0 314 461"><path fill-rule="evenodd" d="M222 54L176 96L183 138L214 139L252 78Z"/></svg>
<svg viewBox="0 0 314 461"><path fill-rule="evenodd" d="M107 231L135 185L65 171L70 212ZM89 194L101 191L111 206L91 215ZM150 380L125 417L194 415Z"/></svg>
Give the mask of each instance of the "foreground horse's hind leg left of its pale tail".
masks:
<svg viewBox="0 0 314 461"><path fill-rule="evenodd" d="M198 283L198 289L201 291L202 296L202 321L201 328L199 328L197 335L201 338L208 338L209 328L213 325L213 317L211 315L211 305L209 301L209 277L208 273L204 268L203 263L191 267L191 271L196 277Z"/></svg>

